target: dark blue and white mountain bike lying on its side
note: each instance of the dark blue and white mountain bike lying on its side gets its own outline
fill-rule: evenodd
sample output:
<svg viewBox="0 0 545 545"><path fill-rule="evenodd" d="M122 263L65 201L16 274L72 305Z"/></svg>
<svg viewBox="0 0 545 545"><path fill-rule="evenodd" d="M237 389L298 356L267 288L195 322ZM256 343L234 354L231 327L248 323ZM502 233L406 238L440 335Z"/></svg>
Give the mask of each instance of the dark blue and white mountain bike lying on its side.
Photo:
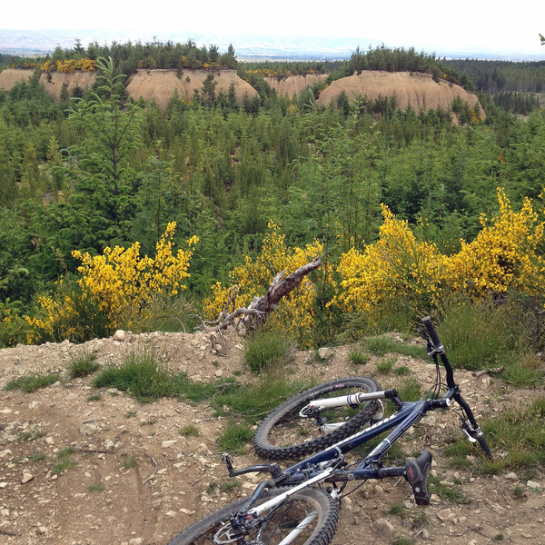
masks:
<svg viewBox="0 0 545 545"><path fill-rule="evenodd" d="M460 387L454 381L451 364L430 317L424 318L422 322L426 331L419 328L420 333L427 342L428 355L436 363L437 369L435 384L428 391L425 399L401 401L398 391L395 389L375 390L376 382L367 380L362 382L364 385L362 391L328 397L327 394L334 391L330 383L325 388L326 395L323 397L317 393L320 391L320 387L317 387L312 389L313 393L310 393L311 390L296 396L295 401L291 400L292 403L289 401L282 403L281 407L272 413L276 413L276 416L269 421L267 426L263 427L262 439L264 436L270 435L269 430L272 430L277 423L279 428L289 428L279 416L279 414L285 414L288 421L296 421L297 419L313 421L312 426L322 431L323 437L327 438L323 441L334 442L284 470L276 462L255 464L235 470L233 459L229 454L224 453L223 461L231 477L251 472L268 472L271 478L258 484L249 497L236 500L230 505L214 511L203 520L195 522L173 538L170 545L204 543L327 545L332 540L337 528L339 504L343 495L346 495L345 488L348 483L355 481L403 477L411 487L415 502L418 505L428 505L430 494L427 487L427 477L431 467L430 451L421 451L418 457L409 458L402 466L398 467L384 467L382 461L391 445L398 441L417 421L420 421L428 411L440 409L454 411L460 418L461 429L468 439L471 442L479 443L484 454L491 459L490 448L475 421L470 406L461 397ZM446 383L441 381L440 360L446 373ZM348 379L341 380L342 383L343 381L348 381ZM338 388L337 393L339 390L342 388ZM442 395L440 395L441 391L443 391ZM304 401L305 404L301 408L299 407L302 405L302 401L299 398L307 400ZM381 416L381 404L377 403L381 400L390 402L395 411L390 416L373 421L372 417L377 413ZM452 401L458 405L457 410L452 407ZM352 432L352 419L357 414L342 413L340 420L335 422L327 413L333 408L345 410L347 407L352 411L357 411L360 405L364 418L356 422L368 426L360 431ZM294 410L294 408L299 408L299 410ZM326 414L330 418L326 418ZM352 424L348 426L351 421ZM296 424L294 425L297 427ZM333 435L340 430L343 430L342 433L348 432L348 437L339 440L338 435ZM352 464L346 461L345 454L347 452L386 431L390 432L362 460ZM282 444L279 448L272 447L270 452L277 459L290 458L298 452L308 449L322 448L320 438L309 439L304 433L300 436L291 432L285 433L285 437L290 438L287 442L293 444ZM332 440L332 437L335 439ZM256 443L260 443L262 439L258 440L256 437ZM268 444L271 444L270 441ZM269 448L266 447L266 449ZM293 448L300 450L293 450Z"/></svg>

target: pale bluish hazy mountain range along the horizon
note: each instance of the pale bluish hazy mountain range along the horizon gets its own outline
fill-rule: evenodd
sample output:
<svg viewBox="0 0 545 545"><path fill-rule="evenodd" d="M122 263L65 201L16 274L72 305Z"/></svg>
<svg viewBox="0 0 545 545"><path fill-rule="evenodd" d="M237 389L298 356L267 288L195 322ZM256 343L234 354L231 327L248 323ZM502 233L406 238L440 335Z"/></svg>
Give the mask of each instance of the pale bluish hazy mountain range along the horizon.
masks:
<svg viewBox="0 0 545 545"><path fill-rule="evenodd" d="M225 51L228 45L233 44L237 58L244 60L335 60L347 59L357 46L362 51L367 47L381 45L380 40L371 40L358 37L328 38L322 36L285 36L285 35L229 35L225 34L196 34L193 33L144 33L143 31L108 31L108 30L6 30L0 29L0 53L35 56L48 54L54 51L57 45L63 48L73 47L79 39L82 45L97 42L98 44L112 44L118 42L186 42L192 39L197 45L217 45ZM395 45L386 44L394 47ZM491 51L437 51L439 57L471 58L512 61L537 61L542 56L531 54L495 54Z"/></svg>

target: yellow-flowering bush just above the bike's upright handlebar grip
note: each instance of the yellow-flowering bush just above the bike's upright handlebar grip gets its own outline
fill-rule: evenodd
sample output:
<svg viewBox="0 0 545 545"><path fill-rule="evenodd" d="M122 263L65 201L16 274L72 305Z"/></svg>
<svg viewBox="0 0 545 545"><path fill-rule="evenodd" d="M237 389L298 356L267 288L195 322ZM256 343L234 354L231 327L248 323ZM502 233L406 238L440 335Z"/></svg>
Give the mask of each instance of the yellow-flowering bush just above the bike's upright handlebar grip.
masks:
<svg viewBox="0 0 545 545"><path fill-rule="evenodd" d="M406 221L382 205L379 240L362 252L352 248L341 256L337 272L342 292L334 302L344 312L364 312L372 318L398 298L414 307L437 302L447 280L448 259L432 243L417 241Z"/></svg>

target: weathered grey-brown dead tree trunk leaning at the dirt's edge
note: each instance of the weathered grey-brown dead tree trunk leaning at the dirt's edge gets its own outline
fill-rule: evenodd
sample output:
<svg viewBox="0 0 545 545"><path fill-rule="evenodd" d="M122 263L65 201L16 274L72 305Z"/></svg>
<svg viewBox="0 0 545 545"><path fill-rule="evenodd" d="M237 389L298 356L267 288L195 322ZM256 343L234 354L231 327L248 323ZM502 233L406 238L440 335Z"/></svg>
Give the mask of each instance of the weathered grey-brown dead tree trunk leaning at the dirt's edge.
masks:
<svg viewBox="0 0 545 545"><path fill-rule="evenodd" d="M247 308L238 308L218 323L218 329L225 329L238 316L242 318L237 323L239 331L253 330L258 324L265 322L269 314L278 307L282 297L299 285L302 279L322 264L318 256L311 263L306 263L296 271L285 276L285 271L279 272L273 279L269 291L261 297L254 297Z"/></svg>

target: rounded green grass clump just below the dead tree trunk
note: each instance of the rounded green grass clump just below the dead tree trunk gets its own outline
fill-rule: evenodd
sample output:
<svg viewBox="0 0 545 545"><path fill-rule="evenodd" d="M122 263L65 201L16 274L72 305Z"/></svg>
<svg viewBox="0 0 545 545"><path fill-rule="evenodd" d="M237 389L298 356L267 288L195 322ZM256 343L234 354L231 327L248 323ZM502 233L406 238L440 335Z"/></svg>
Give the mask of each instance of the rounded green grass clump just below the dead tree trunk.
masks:
<svg viewBox="0 0 545 545"><path fill-rule="evenodd" d="M292 359L293 343L280 332L256 332L244 347L244 362L253 372L279 369Z"/></svg>

